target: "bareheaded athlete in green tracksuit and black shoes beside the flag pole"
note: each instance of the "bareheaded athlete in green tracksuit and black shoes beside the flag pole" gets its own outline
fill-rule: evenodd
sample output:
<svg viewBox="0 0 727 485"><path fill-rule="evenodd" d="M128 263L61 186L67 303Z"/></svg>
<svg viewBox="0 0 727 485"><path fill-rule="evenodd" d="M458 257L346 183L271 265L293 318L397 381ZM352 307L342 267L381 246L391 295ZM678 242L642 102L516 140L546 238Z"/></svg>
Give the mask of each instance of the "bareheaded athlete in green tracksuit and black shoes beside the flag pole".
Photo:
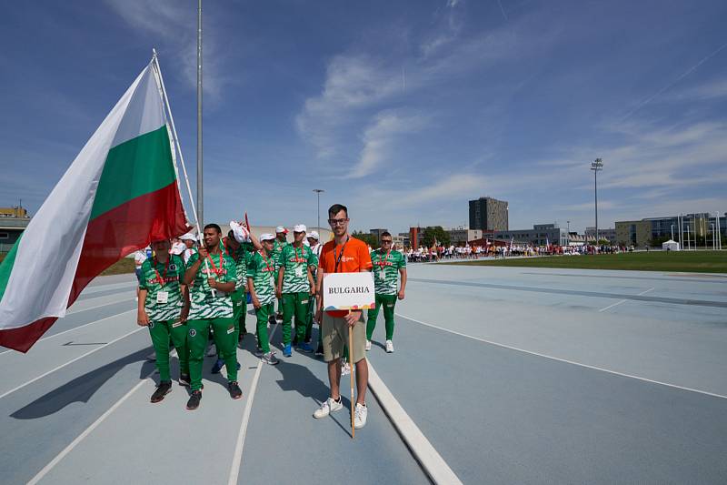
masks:
<svg viewBox="0 0 727 485"><path fill-rule="evenodd" d="M214 343L227 369L227 389L230 397L240 399L243 391L237 384L237 339L234 336L233 302L237 270L234 260L220 245L221 229L216 224L204 227L204 246L189 258L184 282L190 288L190 308L187 320L189 374L192 394L187 409L197 409L202 399L202 361L210 327ZM214 291L213 291L214 290Z"/></svg>

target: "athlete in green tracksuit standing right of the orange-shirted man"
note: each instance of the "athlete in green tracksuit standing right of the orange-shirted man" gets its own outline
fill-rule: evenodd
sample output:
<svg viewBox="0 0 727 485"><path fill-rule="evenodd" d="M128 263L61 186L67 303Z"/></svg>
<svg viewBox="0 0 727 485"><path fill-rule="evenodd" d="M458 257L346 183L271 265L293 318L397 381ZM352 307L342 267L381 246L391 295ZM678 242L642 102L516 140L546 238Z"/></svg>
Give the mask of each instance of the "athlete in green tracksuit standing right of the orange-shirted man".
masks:
<svg viewBox="0 0 727 485"><path fill-rule="evenodd" d="M373 284L376 297L376 308L368 313L366 324L366 350L371 349L371 336L376 328L376 318L379 308L383 306L383 319L386 325L386 351L393 352L393 308L396 298L403 299L406 287L406 259L399 251L392 250L392 235L388 232L381 234L381 246L371 253L373 263ZM397 276L402 276L402 287L396 288Z"/></svg>

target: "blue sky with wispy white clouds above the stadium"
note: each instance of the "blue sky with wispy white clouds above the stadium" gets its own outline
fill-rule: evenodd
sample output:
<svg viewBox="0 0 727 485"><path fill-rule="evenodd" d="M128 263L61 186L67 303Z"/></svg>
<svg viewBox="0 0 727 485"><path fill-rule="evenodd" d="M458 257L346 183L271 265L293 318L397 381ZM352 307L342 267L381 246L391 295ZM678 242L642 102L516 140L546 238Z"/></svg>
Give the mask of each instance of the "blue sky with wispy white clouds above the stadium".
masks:
<svg viewBox="0 0 727 485"><path fill-rule="evenodd" d="M727 211L723 1L204 3L205 219L510 227ZM151 56L194 172L194 0L24 2L0 40L0 205L31 212ZM192 179L194 187L194 177ZM325 216L324 216L325 218Z"/></svg>

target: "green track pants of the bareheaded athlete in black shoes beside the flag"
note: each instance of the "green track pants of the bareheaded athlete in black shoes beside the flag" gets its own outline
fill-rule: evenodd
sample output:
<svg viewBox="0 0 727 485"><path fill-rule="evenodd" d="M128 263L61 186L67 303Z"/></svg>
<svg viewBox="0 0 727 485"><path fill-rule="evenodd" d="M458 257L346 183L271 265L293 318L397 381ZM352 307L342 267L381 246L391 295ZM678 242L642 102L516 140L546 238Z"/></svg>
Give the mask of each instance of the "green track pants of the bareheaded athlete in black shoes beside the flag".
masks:
<svg viewBox="0 0 727 485"><path fill-rule="evenodd" d="M227 380L237 380L237 340L234 338L233 318L202 318L187 321L189 347L189 377L192 390L202 389L202 361L207 347L210 327L214 330L217 355L224 359Z"/></svg>

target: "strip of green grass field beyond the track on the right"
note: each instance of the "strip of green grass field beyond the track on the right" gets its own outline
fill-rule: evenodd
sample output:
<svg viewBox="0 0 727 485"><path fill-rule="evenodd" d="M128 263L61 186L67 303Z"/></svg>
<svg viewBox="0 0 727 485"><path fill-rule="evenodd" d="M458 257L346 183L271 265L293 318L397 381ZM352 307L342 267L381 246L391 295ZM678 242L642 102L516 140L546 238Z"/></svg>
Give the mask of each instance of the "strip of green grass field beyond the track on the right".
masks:
<svg viewBox="0 0 727 485"><path fill-rule="evenodd" d="M679 271L727 273L727 251L651 251L595 256L552 256L474 260L452 265L511 266L524 268L628 269L632 271Z"/></svg>

